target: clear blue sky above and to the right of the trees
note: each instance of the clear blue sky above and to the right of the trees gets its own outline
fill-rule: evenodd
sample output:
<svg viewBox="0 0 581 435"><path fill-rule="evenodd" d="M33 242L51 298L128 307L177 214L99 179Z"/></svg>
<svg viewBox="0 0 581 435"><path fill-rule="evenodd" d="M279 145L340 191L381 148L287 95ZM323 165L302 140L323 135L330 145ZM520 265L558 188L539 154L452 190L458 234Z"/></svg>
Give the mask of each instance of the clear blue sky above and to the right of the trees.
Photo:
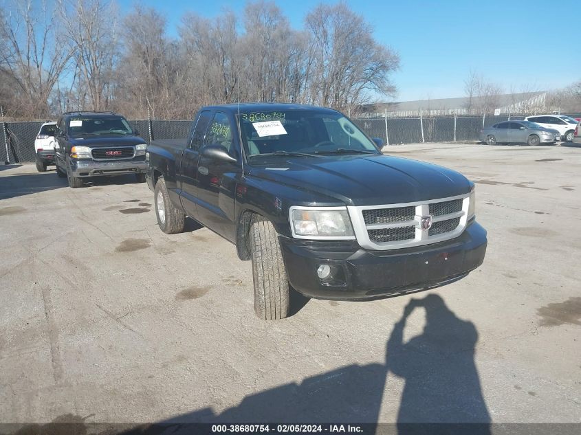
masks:
<svg viewBox="0 0 581 435"><path fill-rule="evenodd" d="M133 0L118 0L122 10ZM243 11L245 1L142 0L168 19L176 35L186 10L212 17L223 8ZM276 4L296 29L319 1L279 0ZM323 1L336 3L336 1ZM346 3L375 29L376 41L393 47L401 69L393 76L397 100L464 95L470 70L501 85L507 93L548 90L581 80L581 9L575 2L542 0L380 1Z"/></svg>

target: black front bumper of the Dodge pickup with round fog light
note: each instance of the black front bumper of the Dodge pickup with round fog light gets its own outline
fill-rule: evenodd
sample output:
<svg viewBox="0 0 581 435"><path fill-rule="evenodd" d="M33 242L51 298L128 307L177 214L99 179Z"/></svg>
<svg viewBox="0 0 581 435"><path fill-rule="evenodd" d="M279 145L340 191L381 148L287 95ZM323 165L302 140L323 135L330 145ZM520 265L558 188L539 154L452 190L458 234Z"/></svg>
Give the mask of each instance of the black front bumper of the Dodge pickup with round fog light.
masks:
<svg viewBox="0 0 581 435"><path fill-rule="evenodd" d="M280 237L289 282L309 298L365 300L430 289L466 276L483 263L486 231L472 222L449 241L406 249L368 251L358 246L312 246ZM331 265L336 282L317 276Z"/></svg>

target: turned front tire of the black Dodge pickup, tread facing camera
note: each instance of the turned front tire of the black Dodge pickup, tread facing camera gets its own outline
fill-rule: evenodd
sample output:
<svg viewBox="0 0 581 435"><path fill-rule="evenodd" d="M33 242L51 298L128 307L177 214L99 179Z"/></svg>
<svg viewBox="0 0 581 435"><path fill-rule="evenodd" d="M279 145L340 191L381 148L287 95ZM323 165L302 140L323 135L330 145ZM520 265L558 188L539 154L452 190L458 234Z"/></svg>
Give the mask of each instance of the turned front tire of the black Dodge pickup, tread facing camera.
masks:
<svg viewBox="0 0 581 435"><path fill-rule="evenodd" d="M289 281L278 234L269 221L250 227L250 255L254 280L254 312L263 320L289 315Z"/></svg>

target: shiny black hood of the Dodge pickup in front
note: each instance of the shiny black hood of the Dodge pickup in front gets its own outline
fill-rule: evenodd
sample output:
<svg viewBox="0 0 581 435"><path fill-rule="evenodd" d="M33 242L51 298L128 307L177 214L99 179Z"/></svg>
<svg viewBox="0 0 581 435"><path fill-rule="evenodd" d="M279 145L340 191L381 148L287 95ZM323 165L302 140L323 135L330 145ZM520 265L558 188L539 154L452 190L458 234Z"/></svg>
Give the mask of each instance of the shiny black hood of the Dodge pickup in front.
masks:
<svg viewBox="0 0 581 435"><path fill-rule="evenodd" d="M318 192L347 205L408 203L470 192L463 175L386 155L287 157L256 165L249 176Z"/></svg>

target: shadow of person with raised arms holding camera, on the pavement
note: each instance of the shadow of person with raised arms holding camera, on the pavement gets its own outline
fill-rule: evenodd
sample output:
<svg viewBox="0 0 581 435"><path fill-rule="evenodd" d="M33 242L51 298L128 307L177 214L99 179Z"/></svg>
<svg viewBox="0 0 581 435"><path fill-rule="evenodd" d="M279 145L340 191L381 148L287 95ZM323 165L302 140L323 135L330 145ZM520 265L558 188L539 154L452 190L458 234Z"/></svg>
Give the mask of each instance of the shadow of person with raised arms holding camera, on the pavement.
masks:
<svg viewBox="0 0 581 435"><path fill-rule="evenodd" d="M419 307L426 311L424 331L404 343L406 320ZM397 414L400 434L421 433L421 427L406 423L484 423L474 425L471 433L490 434L474 364L477 340L474 324L456 317L439 295L410 300L386 352L387 370L405 379Z"/></svg>

